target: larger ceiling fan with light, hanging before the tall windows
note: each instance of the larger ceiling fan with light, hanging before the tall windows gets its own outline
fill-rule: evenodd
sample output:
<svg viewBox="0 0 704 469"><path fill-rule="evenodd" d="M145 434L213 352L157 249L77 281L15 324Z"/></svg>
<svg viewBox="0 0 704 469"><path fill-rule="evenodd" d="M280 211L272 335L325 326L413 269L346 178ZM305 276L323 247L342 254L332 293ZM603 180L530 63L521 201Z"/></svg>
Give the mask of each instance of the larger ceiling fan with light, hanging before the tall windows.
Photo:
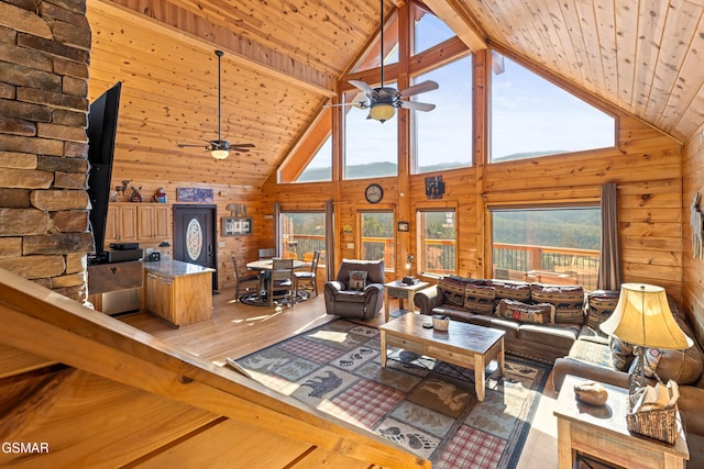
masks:
<svg viewBox="0 0 704 469"><path fill-rule="evenodd" d="M366 97L365 101L353 101L342 104L330 105L354 105L360 109L369 109L370 113L366 119L374 119L382 123L388 121L396 113L396 109L411 109L416 111L432 111L436 109L435 104L428 104L425 102L408 101L404 98L420 94L426 91L437 90L438 83L432 80L427 80L418 85L414 85L409 88L398 91L396 88L384 86L384 0L381 0L381 18L382 23L380 27L380 42L381 42L381 85L377 88L372 88L364 81L350 80L349 82L354 87L362 90Z"/></svg>

